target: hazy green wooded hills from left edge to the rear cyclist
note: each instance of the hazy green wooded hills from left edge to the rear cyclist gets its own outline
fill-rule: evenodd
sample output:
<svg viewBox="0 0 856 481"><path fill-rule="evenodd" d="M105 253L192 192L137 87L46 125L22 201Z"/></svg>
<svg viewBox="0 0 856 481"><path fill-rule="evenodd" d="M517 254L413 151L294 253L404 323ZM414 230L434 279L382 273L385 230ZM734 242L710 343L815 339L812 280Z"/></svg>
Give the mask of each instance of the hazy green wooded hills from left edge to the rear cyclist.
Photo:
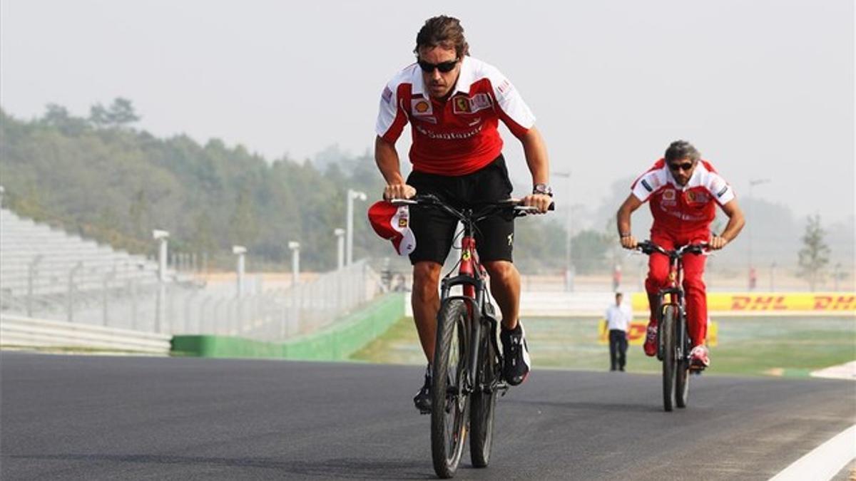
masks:
<svg viewBox="0 0 856 481"><path fill-rule="evenodd" d="M233 245L247 246L257 267L287 264L288 241L299 241L306 269L329 270L333 229L344 227L345 195L354 188L369 194L369 203L355 205L354 257L392 253L366 221L383 187L368 153L318 168L288 157L269 161L218 139L160 139L134 128L139 121L125 98L93 105L87 117L56 104L30 121L0 110L4 205L129 252L153 253L152 229L166 229L172 252L206 253L224 266ZM561 219L526 219L515 237L526 246L515 261L527 270L563 269ZM607 246L603 233L577 235L577 270L605 267Z"/></svg>

